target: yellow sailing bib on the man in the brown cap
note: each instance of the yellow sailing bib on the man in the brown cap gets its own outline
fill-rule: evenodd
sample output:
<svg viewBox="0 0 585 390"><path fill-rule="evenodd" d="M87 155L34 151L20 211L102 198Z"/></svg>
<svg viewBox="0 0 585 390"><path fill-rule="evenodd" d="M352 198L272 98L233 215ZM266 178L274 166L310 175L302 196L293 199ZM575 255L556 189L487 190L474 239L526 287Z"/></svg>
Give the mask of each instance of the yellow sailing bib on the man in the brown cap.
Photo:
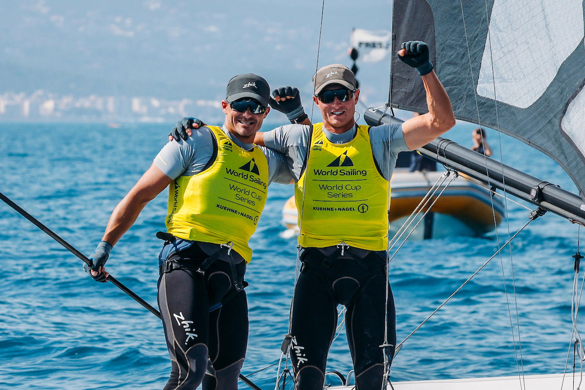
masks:
<svg viewBox="0 0 585 390"><path fill-rule="evenodd" d="M343 241L362 249L387 249L390 186L374 163L369 129L357 126L353 140L333 144L323 123L313 126L307 163L295 186L302 247Z"/></svg>

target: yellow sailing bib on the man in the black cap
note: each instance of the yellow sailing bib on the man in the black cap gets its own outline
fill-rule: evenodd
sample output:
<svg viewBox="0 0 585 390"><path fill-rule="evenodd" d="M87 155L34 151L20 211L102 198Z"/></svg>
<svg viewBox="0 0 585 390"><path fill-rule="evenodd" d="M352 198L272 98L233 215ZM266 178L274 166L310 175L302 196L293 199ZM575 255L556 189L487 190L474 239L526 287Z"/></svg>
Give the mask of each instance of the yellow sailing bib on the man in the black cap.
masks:
<svg viewBox="0 0 585 390"><path fill-rule="evenodd" d="M217 141L217 157L206 170L180 176L169 186L167 232L185 240L232 242L250 262L268 185L268 163L259 147L247 151L221 127L207 126Z"/></svg>

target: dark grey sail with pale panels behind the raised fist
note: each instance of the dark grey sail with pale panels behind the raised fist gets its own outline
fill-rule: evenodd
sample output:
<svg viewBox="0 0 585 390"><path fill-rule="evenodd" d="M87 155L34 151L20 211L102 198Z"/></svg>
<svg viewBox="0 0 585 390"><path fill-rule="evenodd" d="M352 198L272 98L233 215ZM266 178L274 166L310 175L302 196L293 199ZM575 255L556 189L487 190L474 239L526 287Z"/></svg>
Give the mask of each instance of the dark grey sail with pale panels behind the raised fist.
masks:
<svg viewBox="0 0 585 390"><path fill-rule="evenodd" d="M585 192L582 0L396 0L394 51L424 40L457 119L553 158ZM422 82L392 57L391 104L425 111Z"/></svg>

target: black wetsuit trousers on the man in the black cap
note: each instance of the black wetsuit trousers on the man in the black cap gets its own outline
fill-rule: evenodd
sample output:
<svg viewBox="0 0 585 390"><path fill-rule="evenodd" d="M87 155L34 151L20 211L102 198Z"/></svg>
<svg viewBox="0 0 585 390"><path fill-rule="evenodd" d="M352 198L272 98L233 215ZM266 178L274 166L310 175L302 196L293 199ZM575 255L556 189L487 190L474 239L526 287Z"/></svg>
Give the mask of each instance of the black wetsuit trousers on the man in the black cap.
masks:
<svg viewBox="0 0 585 390"><path fill-rule="evenodd" d="M171 357L164 390L194 390L202 382L205 390L238 389L248 337L246 293L235 288L227 261L218 259L207 270L196 270L194 265L207 257L194 243L168 257L189 268L159 278L158 302ZM235 271L243 282L245 261Z"/></svg>

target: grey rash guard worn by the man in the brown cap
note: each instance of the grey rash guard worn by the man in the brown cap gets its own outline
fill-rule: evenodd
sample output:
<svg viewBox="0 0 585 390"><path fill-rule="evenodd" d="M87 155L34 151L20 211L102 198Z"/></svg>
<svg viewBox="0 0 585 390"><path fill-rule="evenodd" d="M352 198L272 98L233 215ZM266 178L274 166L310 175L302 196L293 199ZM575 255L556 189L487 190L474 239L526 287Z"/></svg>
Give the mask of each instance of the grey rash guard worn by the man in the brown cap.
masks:
<svg viewBox="0 0 585 390"><path fill-rule="evenodd" d="M288 169L295 181L299 180L302 164L307 157L310 130L311 126L309 125L284 125L264 133L266 147L286 156ZM335 134L324 128L323 132L330 142L342 144L351 141L356 136L357 129L353 127L345 133ZM398 153L410 151L404 142L402 123L372 127L370 129L370 143L374 159L384 178L388 180L392 177Z"/></svg>

